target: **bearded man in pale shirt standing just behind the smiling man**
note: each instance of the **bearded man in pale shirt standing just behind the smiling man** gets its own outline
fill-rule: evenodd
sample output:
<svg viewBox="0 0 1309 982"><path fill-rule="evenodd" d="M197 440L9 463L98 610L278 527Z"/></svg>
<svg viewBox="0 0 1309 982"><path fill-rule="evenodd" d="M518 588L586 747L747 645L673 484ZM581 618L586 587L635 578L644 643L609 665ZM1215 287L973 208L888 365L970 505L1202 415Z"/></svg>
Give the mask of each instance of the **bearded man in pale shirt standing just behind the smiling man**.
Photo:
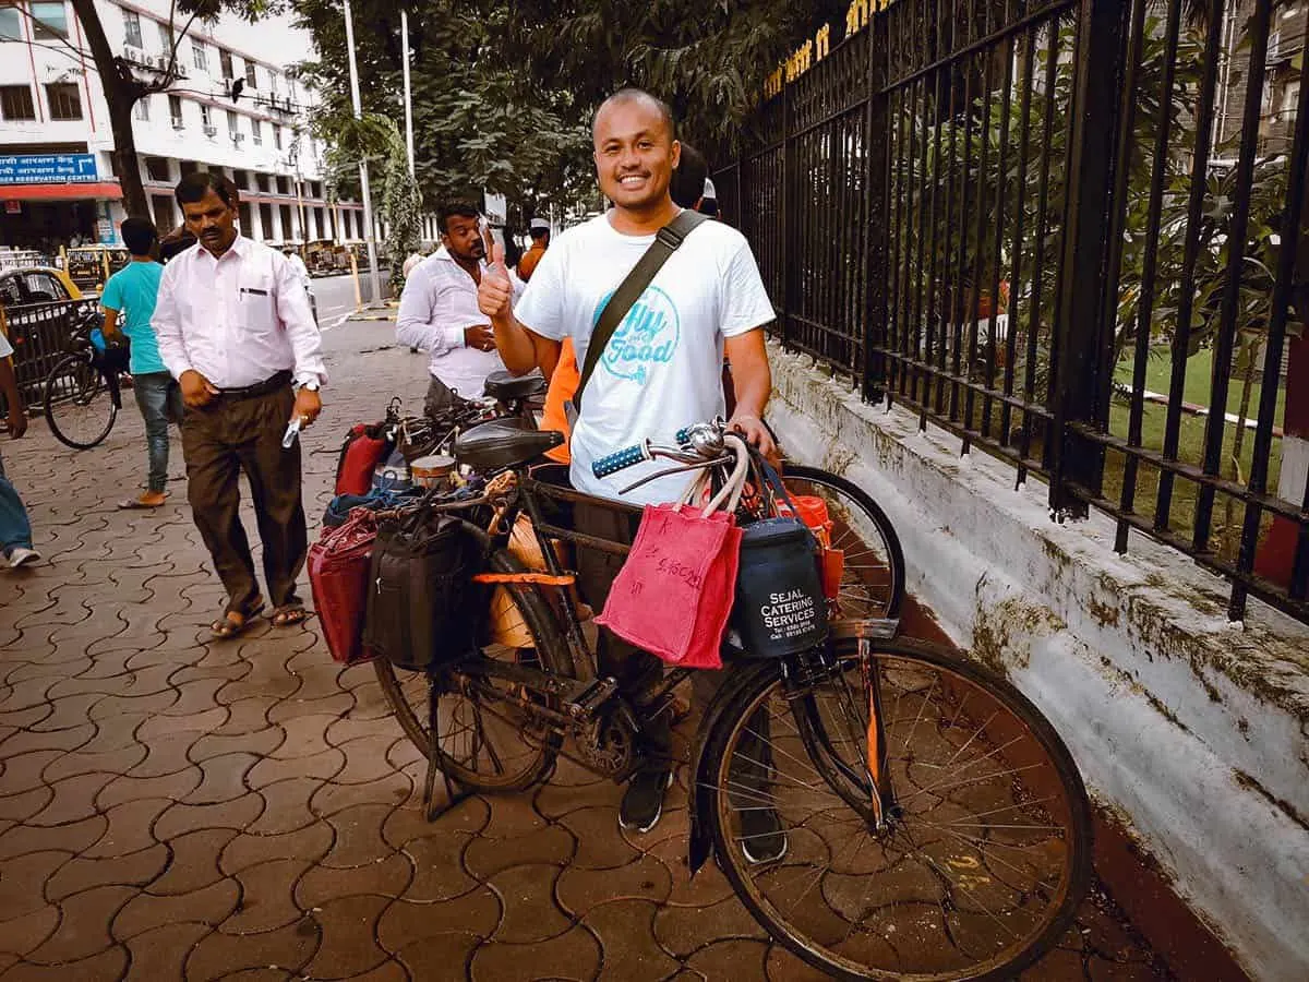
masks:
<svg viewBox="0 0 1309 982"><path fill-rule="evenodd" d="M478 309L487 257L482 215L458 202L437 217L441 247L410 271L395 318L402 344L431 352L432 381L423 403L429 416L448 409L454 395L480 397L487 376L504 371L490 318Z"/></svg>

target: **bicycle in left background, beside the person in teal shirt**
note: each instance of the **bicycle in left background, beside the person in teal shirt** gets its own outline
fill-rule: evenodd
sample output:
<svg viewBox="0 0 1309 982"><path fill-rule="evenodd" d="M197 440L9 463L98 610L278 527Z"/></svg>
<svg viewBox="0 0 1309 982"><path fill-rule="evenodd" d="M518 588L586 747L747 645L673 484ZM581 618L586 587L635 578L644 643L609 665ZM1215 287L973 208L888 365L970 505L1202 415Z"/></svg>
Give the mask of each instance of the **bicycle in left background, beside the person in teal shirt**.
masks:
<svg viewBox="0 0 1309 982"><path fill-rule="evenodd" d="M127 371L127 347L101 348L92 340L98 329L99 317L84 314L68 336L67 354L46 376L42 407L50 432L75 450L103 443L123 407L119 374Z"/></svg>

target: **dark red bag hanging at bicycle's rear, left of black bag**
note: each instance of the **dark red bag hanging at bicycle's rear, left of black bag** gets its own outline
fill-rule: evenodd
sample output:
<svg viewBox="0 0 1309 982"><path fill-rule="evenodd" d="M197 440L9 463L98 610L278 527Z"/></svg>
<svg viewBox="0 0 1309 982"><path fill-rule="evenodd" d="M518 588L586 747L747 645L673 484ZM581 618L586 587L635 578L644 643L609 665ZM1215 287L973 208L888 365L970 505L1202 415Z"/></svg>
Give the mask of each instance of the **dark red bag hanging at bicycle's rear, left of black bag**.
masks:
<svg viewBox="0 0 1309 982"><path fill-rule="evenodd" d="M334 661L372 661L364 647L368 571L377 538L377 516L355 508L350 517L309 547L309 588Z"/></svg>

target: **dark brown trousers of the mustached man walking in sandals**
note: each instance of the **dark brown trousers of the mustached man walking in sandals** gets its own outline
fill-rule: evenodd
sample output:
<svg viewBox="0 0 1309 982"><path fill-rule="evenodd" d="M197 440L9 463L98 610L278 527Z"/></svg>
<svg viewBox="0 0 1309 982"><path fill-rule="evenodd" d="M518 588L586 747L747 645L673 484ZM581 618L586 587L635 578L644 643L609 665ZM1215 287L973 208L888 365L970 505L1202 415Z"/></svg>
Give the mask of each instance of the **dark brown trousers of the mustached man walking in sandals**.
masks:
<svg viewBox="0 0 1309 982"><path fill-rule="evenodd" d="M263 575L274 606L298 604L296 577L305 564L309 533L300 495L300 440L281 449L296 405L291 386L254 395L219 395L204 409L186 410L182 453L195 526L228 592L228 610L246 611L259 596L254 558L238 509L237 481L250 482Z"/></svg>

